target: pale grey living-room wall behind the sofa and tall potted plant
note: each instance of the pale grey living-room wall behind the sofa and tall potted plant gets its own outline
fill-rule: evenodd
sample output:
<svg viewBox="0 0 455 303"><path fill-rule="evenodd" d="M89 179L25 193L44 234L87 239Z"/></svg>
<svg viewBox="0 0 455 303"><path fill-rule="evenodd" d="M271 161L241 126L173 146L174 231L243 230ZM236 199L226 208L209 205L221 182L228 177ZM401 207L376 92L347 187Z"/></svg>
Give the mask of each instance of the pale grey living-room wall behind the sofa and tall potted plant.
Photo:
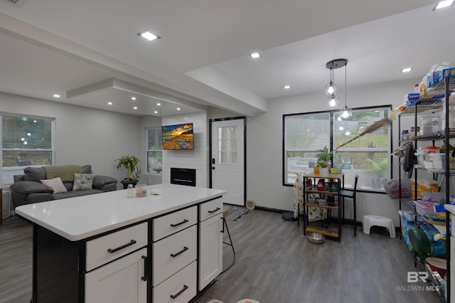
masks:
<svg viewBox="0 0 455 303"><path fill-rule="evenodd" d="M122 180L116 159L139 155L140 117L0 92L0 111L55 118L55 165L91 164L94 174Z"/></svg>

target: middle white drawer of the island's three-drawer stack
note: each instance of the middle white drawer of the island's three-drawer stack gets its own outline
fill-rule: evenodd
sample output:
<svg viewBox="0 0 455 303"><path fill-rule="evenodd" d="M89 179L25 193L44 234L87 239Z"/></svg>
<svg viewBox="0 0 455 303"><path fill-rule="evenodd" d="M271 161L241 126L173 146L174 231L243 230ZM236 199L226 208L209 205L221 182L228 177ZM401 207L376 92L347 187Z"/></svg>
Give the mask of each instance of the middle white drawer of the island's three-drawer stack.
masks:
<svg viewBox="0 0 455 303"><path fill-rule="evenodd" d="M197 257L196 225L159 240L152 245L153 285L171 277L174 273L190 264Z"/></svg>

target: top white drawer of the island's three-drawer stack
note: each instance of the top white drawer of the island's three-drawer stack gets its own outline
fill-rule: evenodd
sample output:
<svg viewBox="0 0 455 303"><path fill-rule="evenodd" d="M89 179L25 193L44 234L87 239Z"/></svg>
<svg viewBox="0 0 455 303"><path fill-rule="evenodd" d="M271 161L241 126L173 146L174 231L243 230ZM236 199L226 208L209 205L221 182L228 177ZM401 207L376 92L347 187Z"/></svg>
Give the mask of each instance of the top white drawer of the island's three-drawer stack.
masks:
<svg viewBox="0 0 455 303"><path fill-rule="evenodd" d="M188 228L198 222L197 206L169 213L153 220L153 240L158 241L168 235Z"/></svg>

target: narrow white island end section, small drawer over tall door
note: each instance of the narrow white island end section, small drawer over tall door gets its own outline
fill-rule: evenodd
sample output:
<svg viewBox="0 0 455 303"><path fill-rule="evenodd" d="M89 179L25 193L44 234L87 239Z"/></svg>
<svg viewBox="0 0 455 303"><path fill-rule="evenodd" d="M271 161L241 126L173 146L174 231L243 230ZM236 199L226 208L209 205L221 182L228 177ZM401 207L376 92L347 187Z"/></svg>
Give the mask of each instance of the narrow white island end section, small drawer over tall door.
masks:
<svg viewBox="0 0 455 303"><path fill-rule="evenodd" d="M199 290L223 271L223 199L199 206Z"/></svg>

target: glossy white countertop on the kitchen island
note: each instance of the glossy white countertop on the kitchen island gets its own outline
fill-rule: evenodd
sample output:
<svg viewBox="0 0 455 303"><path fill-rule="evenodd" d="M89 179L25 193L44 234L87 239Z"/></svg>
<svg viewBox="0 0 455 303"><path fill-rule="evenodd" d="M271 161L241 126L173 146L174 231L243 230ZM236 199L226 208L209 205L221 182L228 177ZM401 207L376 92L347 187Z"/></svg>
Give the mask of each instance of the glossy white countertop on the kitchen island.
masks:
<svg viewBox="0 0 455 303"><path fill-rule="evenodd" d="M151 195L158 189L161 195ZM18 206L18 215L70 241L82 240L115 228L222 196L225 191L175 184L147 186L145 197L127 198L127 190L109 191Z"/></svg>

